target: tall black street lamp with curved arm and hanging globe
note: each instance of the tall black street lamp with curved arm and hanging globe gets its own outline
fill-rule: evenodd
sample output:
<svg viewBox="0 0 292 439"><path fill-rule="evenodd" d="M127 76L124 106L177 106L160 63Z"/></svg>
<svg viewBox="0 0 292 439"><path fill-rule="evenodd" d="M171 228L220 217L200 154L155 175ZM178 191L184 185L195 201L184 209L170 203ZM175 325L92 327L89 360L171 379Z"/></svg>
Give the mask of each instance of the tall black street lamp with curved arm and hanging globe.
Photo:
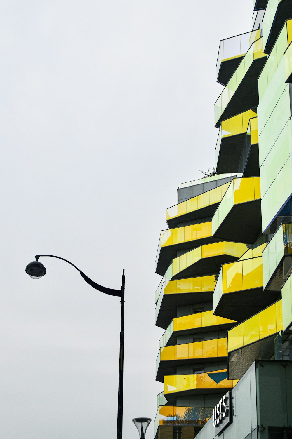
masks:
<svg viewBox="0 0 292 439"><path fill-rule="evenodd" d="M97 284L92 281L89 277L86 276L76 265L72 264L72 262L67 261L67 259L60 258L60 256L54 255L36 255L36 260L32 261L25 267L25 272L32 277L32 279L40 279L46 274L46 268L42 263L39 262L39 258L43 256L49 256L51 258L62 259L62 261L68 262L68 264L72 265L76 270L79 271L83 279L91 285L91 287L95 288L102 293L109 294L111 296L117 296L121 298L121 331L119 337L119 391L118 391L118 421L117 421L117 439L122 439L123 437L123 365L124 365L124 303L125 303L125 270L123 269L122 276L122 286L119 290L113 290L112 288L103 287L102 285ZM133 420L134 421L134 420ZM151 420L150 420L151 421ZM149 422L150 422L149 421ZM146 427L147 428L147 427ZM144 437L144 436L143 436Z"/></svg>

